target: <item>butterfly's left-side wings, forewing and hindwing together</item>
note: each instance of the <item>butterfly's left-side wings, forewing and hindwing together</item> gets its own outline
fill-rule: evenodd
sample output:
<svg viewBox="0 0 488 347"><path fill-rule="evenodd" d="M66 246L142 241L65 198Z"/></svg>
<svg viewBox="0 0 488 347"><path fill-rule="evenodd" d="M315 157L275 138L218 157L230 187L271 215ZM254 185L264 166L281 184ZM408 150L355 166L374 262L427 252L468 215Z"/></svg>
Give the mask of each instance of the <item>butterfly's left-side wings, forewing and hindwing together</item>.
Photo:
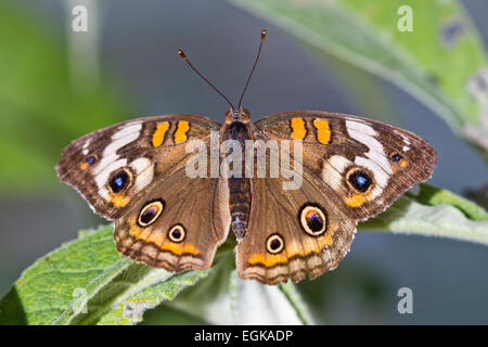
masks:
<svg viewBox="0 0 488 347"><path fill-rule="evenodd" d="M219 128L192 115L120 123L64 149L57 175L98 214L116 220L121 253L170 271L203 269L227 235L227 185L188 177L193 153L187 153L187 144L195 139L207 147L210 130Z"/></svg>

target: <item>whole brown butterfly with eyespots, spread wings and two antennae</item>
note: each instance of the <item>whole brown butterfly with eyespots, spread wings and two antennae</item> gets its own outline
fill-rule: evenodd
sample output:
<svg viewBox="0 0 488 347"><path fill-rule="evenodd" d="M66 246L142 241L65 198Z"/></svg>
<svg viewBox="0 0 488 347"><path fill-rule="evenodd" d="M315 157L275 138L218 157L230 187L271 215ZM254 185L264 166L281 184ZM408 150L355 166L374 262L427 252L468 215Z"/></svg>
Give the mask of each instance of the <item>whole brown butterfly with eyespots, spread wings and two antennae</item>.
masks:
<svg viewBox="0 0 488 347"><path fill-rule="evenodd" d="M337 267L359 221L431 178L435 150L416 134L381 121L291 111L252 123L241 102L265 35L237 107L179 51L230 103L223 125L187 114L144 117L94 131L63 150L59 178L97 214L115 221L121 254L168 271L207 269L232 229L241 278L265 284L313 279ZM217 146L236 141L246 153L246 141L294 143L283 153L291 167L301 168L299 187L284 189L285 177L260 177L256 167L249 177L190 177L194 153L188 145L200 141L211 162L213 133L219 134ZM270 149L261 153L271 156ZM249 157L256 163L254 151ZM208 167L204 171L211 174Z"/></svg>

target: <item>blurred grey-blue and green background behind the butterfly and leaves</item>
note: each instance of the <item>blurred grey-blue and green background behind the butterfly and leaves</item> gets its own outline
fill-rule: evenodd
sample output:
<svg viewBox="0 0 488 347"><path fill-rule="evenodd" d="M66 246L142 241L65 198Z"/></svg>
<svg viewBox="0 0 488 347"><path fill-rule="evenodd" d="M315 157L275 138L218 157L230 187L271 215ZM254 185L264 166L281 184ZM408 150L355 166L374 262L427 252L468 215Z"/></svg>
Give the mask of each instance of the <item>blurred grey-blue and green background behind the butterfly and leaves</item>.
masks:
<svg viewBox="0 0 488 347"><path fill-rule="evenodd" d="M486 46L488 2L463 3ZM70 29L76 4L89 9L89 33ZM222 121L227 104L176 50L234 100L261 28L268 38L244 100L254 120L287 110L371 116L431 142L439 156L432 184L465 195L488 183L480 156L412 97L332 56L316 60L229 2L0 0L0 295L35 259L104 222L57 181L61 150L132 117L188 113ZM337 270L298 287L320 322L486 324L487 264L480 245L364 232ZM402 286L413 290L413 314L397 311ZM150 312L146 323L195 322L163 320L162 312Z"/></svg>

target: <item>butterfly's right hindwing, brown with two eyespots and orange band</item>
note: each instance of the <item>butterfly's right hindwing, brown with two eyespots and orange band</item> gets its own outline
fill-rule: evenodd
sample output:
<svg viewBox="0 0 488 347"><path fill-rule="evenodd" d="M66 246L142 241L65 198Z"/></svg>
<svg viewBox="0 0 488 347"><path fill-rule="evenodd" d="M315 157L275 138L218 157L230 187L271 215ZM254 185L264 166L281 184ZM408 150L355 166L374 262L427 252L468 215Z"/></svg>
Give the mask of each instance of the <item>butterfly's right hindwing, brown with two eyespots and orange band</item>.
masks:
<svg viewBox="0 0 488 347"><path fill-rule="evenodd" d="M237 272L266 284L313 279L349 250L356 221L312 183L283 190L283 180L257 178L248 233L237 245Z"/></svg>

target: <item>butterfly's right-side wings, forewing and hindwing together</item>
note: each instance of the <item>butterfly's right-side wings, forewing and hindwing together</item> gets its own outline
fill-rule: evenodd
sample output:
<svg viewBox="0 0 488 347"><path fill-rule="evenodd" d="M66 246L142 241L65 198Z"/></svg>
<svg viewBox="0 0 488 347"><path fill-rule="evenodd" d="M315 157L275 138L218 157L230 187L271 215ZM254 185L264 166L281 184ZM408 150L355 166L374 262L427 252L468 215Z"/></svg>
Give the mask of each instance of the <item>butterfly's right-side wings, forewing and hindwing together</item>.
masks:
<svg viewBox="0 0 488 347"><path fill-rule="evenodd" d="M237 246L242 277L274 284L314 278L337 266L356 224L387 208L407 189L427 180L436 153L420 137L362 117L288 112L256 123L258 138L298 140L303 182L283 190L283 179L254 179L249 232ZM326 226L323 233L310 232ZM273 254L270 237L281 236ZM278 246L279 242L275 242Z"/></svg>

